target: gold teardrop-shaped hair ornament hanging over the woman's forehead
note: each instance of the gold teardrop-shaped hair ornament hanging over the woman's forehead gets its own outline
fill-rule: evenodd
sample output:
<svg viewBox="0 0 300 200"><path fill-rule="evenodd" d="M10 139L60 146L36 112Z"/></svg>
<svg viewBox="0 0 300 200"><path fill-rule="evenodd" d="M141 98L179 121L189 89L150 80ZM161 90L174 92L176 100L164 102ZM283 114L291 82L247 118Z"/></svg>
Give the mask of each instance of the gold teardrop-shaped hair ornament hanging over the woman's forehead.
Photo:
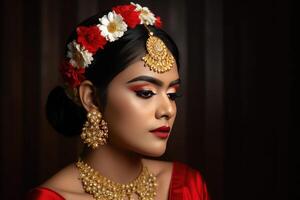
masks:
<svg viewBox="0 0 300 200"><path fill-rule="evenodd" d="M149 38L146 42L147 54L142 58L145 66L157 73L164 73L172 69L175 59L166 47L165 43L145 25L149 32Z"/></svg>

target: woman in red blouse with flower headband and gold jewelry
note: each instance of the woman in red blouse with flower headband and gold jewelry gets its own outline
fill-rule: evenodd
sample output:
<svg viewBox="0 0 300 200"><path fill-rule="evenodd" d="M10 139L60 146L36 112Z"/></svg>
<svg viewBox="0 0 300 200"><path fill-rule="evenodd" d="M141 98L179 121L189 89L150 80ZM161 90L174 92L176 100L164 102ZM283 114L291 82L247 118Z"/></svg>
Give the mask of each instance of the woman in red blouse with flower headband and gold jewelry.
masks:
<svg viewBox="0 0 300 200"><path fill-rule="evenodd" d="M143 158L165 152L176 116L178 50L161 24L131 3L71 34L60 67L65 85L49 94L47 117L86 145L29 199L208 199L199 172Z"/></svg>

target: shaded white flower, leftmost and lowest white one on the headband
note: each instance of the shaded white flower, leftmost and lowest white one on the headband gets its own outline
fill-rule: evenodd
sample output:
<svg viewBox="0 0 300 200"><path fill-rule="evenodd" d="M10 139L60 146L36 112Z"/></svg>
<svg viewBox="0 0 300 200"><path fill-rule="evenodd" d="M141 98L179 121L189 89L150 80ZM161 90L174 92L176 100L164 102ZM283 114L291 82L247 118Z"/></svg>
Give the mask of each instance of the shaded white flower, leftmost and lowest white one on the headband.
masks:
<svg viewBox="0 0 300 200"><path fill-rule="evenodd" d="M68 44L67 57L70 58L70 63L75 68L87 67L93 61L93 54L80 46L75 40Z"/></svg>

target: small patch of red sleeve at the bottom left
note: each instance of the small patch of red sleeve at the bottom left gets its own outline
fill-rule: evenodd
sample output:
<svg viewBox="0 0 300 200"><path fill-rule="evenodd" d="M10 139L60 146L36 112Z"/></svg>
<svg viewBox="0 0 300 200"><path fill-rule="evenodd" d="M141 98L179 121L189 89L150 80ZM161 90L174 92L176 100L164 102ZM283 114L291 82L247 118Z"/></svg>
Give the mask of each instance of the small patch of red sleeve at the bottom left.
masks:
<svg viewBox="0 0 300 200"><path fill-rule="evenodd" d="M65 200L57 192L43 187L34 188L27 195L27 200Z"/></svg>

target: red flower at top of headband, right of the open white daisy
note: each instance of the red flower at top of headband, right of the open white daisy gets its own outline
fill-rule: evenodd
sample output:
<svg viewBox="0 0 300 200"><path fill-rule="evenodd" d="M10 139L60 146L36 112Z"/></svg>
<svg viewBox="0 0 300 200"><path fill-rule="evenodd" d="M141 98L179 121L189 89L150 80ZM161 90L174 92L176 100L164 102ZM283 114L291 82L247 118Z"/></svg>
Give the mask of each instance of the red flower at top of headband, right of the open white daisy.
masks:
<svg viewBox="0 0 300 200"><path fill-rule="evenodd" d="M130 28L134 28L136 25L141 23L139 18L140 12L135 11L135 8L136 7L134 5L130 4L113 7L112 10L117 14L120 14Z"/></svg>

